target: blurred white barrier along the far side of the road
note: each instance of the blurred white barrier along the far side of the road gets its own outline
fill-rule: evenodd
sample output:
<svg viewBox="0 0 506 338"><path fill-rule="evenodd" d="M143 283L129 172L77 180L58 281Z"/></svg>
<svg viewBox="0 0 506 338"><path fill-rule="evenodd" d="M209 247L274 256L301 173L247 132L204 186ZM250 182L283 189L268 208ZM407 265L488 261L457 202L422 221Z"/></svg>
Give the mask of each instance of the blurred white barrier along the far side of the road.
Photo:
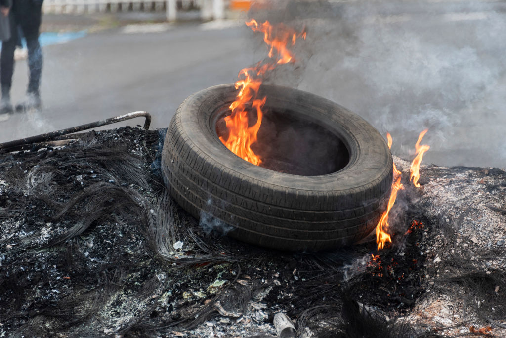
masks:
<svg viewBox="0 0 506 338"><path fill-rule="evenodd" d="M105 13L105 12L162 12L167 21L178 18L178 2L182 9L196 7L202 20L220 20L225 16L226 0L45 0L44 13Z"/></svg>

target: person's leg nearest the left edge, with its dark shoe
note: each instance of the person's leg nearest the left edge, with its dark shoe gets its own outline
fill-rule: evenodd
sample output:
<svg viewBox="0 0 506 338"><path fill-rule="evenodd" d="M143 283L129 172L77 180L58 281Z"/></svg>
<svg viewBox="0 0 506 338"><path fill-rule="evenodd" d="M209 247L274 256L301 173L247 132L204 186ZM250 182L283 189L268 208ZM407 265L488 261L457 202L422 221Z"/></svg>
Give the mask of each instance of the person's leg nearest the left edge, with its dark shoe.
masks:
<svg viewBox="0 0 506 338"><path fill-rule="evenodd" d="M10 14L11 19L11 38L2 41L2 54L0 55L0 85L2 86L2 100L0 101L0 112L12 112L11 105L11 86L12 74L14 72L14 51L18 40L18 31L14 21L14 16Z"/></svg>

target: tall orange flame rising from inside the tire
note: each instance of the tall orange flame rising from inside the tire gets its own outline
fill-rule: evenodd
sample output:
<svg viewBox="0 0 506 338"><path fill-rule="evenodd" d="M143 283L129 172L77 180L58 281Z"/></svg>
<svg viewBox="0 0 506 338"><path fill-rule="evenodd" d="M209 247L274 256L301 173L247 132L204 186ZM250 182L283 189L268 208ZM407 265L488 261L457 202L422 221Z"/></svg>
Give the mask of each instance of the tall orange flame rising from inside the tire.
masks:
<svg viewBox="0 0 506 338"><path fill-rule="evenodd" d="M262 24L254 19L246 22L253 31L263 32L264 41L269 50L269 62L258 63L255 67L244 68L239 72L239 80L235 82L235 89L239 90L236 100L230 105L232 113L225 117L228 138L220 137L222 143L234 154L242 159L259 165L260 157L251 150L251 145L257 142L257 134L262 123L262 108L266 98L258 99L258 91L262 85L262 79L268 71L273 70L279 64L294 62L292 53L288 50L289 45L296 43L297 37L306 38L306 32L297 32L283 24L272 26L269 21ZM252 109L253 108L253 109ZM256 122L250 125L250 110L256 112Z"/></svg>

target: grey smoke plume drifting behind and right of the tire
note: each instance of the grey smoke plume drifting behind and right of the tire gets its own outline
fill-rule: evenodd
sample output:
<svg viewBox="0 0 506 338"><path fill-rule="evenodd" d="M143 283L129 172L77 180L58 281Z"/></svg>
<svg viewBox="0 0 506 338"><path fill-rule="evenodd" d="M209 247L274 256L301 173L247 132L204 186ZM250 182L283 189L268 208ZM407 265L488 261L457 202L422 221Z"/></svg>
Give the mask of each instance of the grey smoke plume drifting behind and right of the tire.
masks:
<svg viewBox="0 0 506 338"><path fill-rule="evenodd" d="M494 6L278 1L248 16L308 32L294 46L297 62L267 83L351 109L382 135L390 132L400 157L412 159L418 133L429 128L425 163L502 168L506 20Z"/></svg>

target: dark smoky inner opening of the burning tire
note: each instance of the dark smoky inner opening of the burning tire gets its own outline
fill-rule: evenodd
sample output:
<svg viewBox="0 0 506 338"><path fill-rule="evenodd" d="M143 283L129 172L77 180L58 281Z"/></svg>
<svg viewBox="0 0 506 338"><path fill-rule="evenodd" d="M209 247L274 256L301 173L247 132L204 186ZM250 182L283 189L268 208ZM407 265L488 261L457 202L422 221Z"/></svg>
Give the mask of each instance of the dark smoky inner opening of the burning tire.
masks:
<svg viewBox="0 0 506 338"><path fill-rule="evenodd" d="M265 108L265 107L264 107ZM216 132L228 138L225 116L218 117ZM256 122L256 114L249 125ZM260 166L280 173L318 176L335 173L350 161L345 143L326 126L300 114L264 109L257 142L251 150L262 159ZM221 141L220 141L221 142Z"/></svg>

